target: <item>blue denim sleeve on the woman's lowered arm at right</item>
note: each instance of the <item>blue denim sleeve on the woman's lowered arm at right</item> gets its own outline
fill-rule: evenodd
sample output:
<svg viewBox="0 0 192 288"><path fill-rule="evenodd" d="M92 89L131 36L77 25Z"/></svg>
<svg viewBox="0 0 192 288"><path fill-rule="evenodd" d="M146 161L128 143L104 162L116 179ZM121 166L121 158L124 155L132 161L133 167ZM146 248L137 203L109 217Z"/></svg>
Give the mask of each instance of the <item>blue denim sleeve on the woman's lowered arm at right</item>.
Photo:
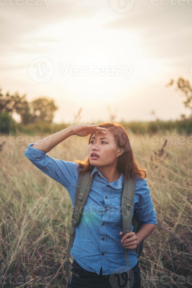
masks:
<svg viewBox="0 0 192 288"><path fill-rule="evenodd" d="M139 194L139 201L135 203L137 217L141 224L157 224L156 211L153 207L151 192L146 178L137 180L135 193Z"/></svg>

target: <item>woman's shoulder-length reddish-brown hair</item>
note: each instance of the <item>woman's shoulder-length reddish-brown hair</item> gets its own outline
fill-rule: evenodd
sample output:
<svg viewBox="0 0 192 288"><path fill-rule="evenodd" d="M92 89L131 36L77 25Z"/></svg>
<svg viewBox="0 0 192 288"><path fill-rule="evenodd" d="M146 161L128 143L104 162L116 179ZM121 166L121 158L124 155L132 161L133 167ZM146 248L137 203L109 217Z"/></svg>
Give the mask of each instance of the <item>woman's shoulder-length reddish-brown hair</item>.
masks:
<svg viewBox="0 0 192 288"><path fill-rule="evenodd" d="M131 144L129 141L129 137L127 131L123 127L121 123L113 123L113 122L104 122L98 125L99 127L108 128L110 132L113 133L116 144L119 148L124 149L124 153L118 157L117 161L117 170L121 174L127 175L127 177L131 178L146 178L146 169L139 168L137 161L134 158L133 150L131 148ZM115 131L115 134L114 134ZM90 139L94 133L90 134ZM78 174L83 172L92 172L95 166L90 164L89 155L83 161L75 160L78 163Z"/></svg>

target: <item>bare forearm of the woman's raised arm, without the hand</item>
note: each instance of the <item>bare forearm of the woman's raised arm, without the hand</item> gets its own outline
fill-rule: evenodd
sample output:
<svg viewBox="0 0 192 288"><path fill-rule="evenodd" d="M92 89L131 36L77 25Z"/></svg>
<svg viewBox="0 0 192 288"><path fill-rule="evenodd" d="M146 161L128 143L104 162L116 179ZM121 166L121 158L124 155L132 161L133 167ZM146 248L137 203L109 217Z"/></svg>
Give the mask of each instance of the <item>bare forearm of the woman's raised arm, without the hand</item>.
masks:
<svg viewBox="0 0 192 288"><path fill-rule="evenodd" d="M44 152L49 152L51 149L53 149L56 145L58 145L60 142L68 138L69 136L73 135L73 125L68 126L67 128L56 132L52 135L49 135L37 143L35 143L32 147L39 149Z"/></svg>

